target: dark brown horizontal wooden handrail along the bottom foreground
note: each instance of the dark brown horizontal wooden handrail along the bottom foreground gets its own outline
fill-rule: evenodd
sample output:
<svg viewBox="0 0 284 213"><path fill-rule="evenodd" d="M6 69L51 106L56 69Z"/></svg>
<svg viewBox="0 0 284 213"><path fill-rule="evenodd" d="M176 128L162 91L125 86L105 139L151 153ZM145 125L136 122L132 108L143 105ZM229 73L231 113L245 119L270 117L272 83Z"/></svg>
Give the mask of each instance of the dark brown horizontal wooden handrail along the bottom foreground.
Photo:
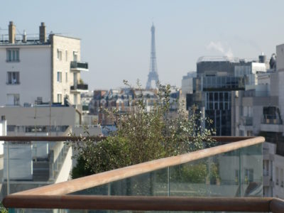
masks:
<svg viewBox="0 0 284 213"><path fill-rule="evenodd" d="M8 208L37 209L271 212L272 201L271 197L9 195L3 204Z"/></svg>

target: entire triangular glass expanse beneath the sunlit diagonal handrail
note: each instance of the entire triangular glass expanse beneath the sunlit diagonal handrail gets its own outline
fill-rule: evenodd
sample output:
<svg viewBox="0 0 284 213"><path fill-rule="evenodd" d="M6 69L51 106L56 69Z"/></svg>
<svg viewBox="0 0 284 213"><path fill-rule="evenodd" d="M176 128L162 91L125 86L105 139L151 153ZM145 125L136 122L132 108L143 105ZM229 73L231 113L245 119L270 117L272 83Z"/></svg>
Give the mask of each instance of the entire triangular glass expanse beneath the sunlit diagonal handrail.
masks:
<svg viewBox="0 0 284 213"><path fill-rule="evenodd" d="M217 146L219 143L210 144ZM261 197L262 145L155 170L72 195Z"/></svg>

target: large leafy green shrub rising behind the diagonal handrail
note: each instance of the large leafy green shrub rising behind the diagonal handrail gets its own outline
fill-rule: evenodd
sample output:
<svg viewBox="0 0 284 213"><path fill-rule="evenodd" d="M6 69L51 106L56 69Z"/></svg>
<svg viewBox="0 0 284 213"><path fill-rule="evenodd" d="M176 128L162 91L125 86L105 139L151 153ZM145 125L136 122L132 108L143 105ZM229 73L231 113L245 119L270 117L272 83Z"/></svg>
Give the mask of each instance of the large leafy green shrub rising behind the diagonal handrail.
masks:
<svg viewBox="0 0 284 213"><path fill-rule="evenodd" d="M124 84L131 87L126 81ZM84 163L82 175L196 151L204 147L204 141L210 146L213 130L204 128L206 121L196 107L189 117L183 110L170 110L171 104L177 104L170 100L170 85L160 85L151 111L146 110L141 85L137 85L138 92L131 87L135 94L133 110L117 116L116 132L103 141L82 137L83 143L73 144L78 151L77 167ZM116 116L118 111L112 114ZM80 170L75 171L73 178L80 177Z"/></svg>

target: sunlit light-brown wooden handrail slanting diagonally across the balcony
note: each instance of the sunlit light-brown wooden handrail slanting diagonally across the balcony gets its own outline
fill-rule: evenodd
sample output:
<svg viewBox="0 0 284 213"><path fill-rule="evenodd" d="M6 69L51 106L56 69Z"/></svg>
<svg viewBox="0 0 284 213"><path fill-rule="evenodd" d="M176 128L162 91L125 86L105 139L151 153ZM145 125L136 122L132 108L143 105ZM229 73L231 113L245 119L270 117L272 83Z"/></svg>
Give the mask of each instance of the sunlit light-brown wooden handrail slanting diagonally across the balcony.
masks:
<svg viewBox="0 0 284 213"><path fill-rule="evenodd" d="M183 155L178 155L178 156L173 156L173 157L168 157L168 158L161 158L158 160L151 160L146 163L140 163L140 164L131 165L125 168L110 170L104 173L89 175L83 178L77 178L77 179L69 180L66 182L60 182L54 185L47 185L47 186L38 187L32 190L17 192L17 193L14 193L13 195L67 195L72 192L77 192L80 190L88 189L90 187L96 187L99 185L107 184L109 182L122 180L124 178L130 178L136 175L141 175L143 173L149 173L154 170L168 168L170 166L180 165L182 163L188 163L193 160L207 158L212 155L218 155L221 153L234 151L236 149L244 148L247 146L253 146L258 143L263 143L264 141L265 141L265 138L263 137L250 138L244 141L227 143L222 146L206 148L200 151L186 153Z"/></svg>

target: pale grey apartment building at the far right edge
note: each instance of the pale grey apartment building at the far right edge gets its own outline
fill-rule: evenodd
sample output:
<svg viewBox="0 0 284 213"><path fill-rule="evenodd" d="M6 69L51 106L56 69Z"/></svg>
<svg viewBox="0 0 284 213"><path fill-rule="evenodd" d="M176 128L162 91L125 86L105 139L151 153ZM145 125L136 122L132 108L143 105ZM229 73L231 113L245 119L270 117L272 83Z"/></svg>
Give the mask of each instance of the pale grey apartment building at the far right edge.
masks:
<svg viewBox="0 0 284 213"><path fill-rule="evenodd" d="M284 198L284 44L276 46L270 69L258 75L258 84L232 92L232 134L264 136L263 195Z"/></svg>

